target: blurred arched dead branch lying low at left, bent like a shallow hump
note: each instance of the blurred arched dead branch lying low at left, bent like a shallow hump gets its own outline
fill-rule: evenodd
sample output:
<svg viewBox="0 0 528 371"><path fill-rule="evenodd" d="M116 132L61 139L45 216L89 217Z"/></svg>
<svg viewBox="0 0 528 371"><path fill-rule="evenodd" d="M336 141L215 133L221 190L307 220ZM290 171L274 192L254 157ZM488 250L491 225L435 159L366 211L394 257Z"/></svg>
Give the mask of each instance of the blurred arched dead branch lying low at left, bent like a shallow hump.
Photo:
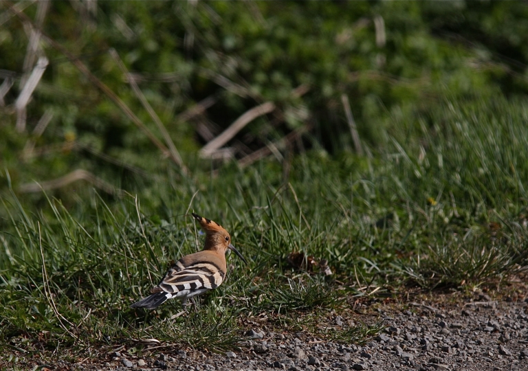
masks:
<svg viewBox="0 0 528 371"><path fill-rule="evenodd" d="M19 192L33 193L41 192L42 190L56 190L58 188L63 188L69 183L73 183L74 181L78 180L87 181L88 183L91 183L94 187L99 188L100 190L102 190L103 192L107 192L108 194L121 194L121 190L114 188L110 183L107 183L106 181L93 175L91 172L83 169L74 170L69 174L65 175L64 177L60 177L50 181L22 184L19 187Z"/></svg>

